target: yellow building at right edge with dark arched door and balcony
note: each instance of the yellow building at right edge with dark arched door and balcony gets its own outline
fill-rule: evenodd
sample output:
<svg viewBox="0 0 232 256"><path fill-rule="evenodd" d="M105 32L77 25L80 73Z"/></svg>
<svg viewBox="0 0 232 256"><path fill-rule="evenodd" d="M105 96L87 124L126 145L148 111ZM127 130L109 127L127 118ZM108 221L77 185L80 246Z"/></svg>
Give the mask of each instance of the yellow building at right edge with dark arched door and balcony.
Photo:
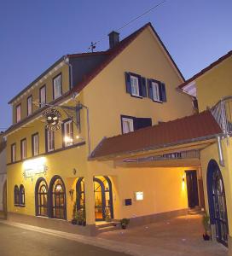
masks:
<svg viewBox="0 0 232 256"><path fill-rule="evenodd" d="M232 51L179 86L196 96L200 112L210 109L222 132L200 152L206 210L212 234L232 255Z"/></svg>

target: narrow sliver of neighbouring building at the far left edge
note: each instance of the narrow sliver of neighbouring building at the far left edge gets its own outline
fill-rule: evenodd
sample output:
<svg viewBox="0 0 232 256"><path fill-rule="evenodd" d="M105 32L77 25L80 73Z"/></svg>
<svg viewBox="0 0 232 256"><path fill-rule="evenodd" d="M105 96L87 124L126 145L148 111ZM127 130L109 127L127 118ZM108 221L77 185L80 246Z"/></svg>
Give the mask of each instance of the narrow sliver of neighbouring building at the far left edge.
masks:
<svg viewBox="0 0 232 256"><path fill-rule="evenodd" d="M7 213L7 154L3 133L0 134L0 217Z"/></svg>

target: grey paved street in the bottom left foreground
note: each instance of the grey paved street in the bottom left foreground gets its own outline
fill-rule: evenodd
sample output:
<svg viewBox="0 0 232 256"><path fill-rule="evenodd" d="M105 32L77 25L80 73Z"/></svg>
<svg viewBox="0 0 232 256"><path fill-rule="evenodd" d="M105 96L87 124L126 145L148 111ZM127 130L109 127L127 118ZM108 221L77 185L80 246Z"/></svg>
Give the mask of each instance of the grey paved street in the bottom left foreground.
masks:
<svg viewBox="0 0 232 256"><path fill-rule="evenodd" d="M78 241L0 224L0 256L128 256Z"/></svg>

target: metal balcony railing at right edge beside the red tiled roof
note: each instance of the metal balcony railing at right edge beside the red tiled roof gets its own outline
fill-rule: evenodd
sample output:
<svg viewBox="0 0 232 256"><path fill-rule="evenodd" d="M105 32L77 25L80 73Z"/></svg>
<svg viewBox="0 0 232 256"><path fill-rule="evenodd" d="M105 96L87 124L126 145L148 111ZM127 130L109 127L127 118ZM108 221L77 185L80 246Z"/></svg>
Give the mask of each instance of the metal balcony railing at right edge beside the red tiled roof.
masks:
<svg viewBox="0 0 232 256"><path fill-rule="evenodd" d="M211 112L223 133L227 136L232 135L232 96L223 97L211 108Z"/></svg>

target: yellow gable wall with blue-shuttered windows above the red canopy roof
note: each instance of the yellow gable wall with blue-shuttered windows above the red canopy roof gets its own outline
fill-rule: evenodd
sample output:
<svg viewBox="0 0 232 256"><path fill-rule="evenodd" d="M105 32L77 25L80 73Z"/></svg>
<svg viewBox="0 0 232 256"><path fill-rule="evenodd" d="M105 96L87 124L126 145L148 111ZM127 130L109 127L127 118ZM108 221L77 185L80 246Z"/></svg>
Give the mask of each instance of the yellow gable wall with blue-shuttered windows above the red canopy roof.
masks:
<svg viewBox="0 0 232 256"><path fill-rule="evenodd" d="M126 93L125 72L163 81L167 102L160 104ZM82 92L84 104L90 108L92 148L102 137L121 134L121 114L152 118L153 125L192 114L191 98L176 90L181 82L153 33L143 31Z"/></svg>

